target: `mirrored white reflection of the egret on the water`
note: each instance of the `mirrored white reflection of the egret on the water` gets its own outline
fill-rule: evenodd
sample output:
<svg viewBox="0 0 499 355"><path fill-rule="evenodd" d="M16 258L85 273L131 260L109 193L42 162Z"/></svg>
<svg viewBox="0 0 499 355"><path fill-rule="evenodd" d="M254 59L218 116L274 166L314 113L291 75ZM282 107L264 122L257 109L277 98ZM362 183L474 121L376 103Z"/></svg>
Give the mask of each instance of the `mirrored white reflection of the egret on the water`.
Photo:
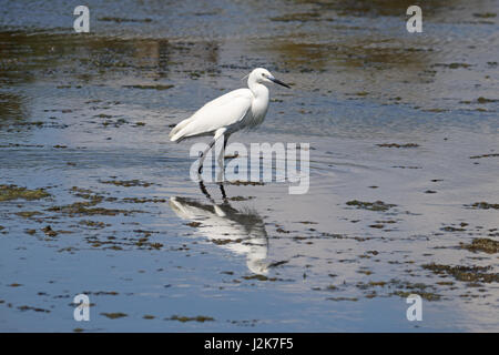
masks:
<svg viewBox="0 0 499 355"><path fill-rule="evenodd" d="M204 183L200 189L210 203L194 199L170 197L170 206L177 216L195 222L197 235L238 255L246 255L246 265L255 274L267 274L268 237L262 217L249 209L236 210L228 203L223 184L222 203L216 203Z"/></svg>

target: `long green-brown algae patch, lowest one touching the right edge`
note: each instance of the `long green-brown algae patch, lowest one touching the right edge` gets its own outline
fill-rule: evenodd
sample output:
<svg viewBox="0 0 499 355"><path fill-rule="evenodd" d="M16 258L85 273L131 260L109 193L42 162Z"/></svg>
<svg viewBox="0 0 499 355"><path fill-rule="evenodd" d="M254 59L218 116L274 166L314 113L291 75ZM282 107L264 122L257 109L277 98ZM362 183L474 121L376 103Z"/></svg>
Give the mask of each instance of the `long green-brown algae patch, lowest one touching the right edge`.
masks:
<svg viewBox="0 0 499 355"><path fill-rule="evenodd" d="M491 268L491 266L450 266L442 264L426 264L421 265L422 268L430 270L437 275L450 275L458 281L466 282L499 282L499 274L497 273L486 273Z"/></svg>

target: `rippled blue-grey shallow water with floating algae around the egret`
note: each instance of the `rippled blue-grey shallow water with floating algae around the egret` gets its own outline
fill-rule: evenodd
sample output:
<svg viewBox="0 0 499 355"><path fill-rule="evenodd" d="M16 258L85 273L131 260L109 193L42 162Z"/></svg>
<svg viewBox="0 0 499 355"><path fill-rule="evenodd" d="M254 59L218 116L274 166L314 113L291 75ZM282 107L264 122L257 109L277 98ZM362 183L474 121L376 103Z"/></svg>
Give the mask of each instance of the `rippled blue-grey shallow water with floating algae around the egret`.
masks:
<svg viewBox="0 0 499 355"><path fill-rule="evenodd" d="M498 1L0 3L0 185L50 194L0 199L1 331L499 329ZM169 125L259 65L232 141L309 143L309 191L208 199Z"/></svg>

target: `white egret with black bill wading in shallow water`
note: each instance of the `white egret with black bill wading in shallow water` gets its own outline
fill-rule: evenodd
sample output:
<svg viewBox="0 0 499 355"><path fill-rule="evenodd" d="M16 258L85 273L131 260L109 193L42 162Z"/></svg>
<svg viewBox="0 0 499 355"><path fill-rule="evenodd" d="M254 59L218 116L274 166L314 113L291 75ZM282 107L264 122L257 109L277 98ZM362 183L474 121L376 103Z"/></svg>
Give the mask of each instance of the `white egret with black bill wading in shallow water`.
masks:
<svg viewBox="0 0 499 355"><path fill-rule="evenodd" d="M208 148L201 154L198 173L203 170L206 153L215 142L223 136L224 151L230 135L242 129L255 128L263 122L267 113L269 95L266 83L276 83L291 89L281 80L274 78L264 68L254 69L247 75L248 89L231 91L210 101L192 116L183 120L170 132L172 142L180 142L187 138L214 134ZM222 154L223 152L222 151Z"/></svg>

